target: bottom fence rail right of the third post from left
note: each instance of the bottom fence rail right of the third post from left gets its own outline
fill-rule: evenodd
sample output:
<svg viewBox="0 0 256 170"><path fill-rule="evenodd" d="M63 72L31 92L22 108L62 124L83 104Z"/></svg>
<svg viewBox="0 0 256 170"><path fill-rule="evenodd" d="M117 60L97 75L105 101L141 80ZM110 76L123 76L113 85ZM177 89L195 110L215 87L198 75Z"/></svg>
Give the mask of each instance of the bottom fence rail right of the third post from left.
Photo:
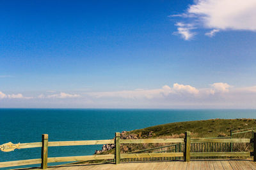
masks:
<svg viewBox="0 0 256 170"><path fill-rule="evenodd" d="M191 157L250 157L250 152L191 152Z"/></svg>

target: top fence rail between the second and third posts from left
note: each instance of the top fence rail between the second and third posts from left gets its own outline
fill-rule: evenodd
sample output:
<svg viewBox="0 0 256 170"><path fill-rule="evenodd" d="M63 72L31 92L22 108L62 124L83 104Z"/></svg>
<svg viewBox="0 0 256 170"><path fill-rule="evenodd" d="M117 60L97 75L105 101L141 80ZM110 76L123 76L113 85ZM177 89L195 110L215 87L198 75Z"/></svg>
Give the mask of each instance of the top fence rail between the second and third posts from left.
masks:
<svg viewBox="0 0 256 170"><path fill-rule="evenodd" d="M120 139L120 143L184 143L184 139Z"/></svg>

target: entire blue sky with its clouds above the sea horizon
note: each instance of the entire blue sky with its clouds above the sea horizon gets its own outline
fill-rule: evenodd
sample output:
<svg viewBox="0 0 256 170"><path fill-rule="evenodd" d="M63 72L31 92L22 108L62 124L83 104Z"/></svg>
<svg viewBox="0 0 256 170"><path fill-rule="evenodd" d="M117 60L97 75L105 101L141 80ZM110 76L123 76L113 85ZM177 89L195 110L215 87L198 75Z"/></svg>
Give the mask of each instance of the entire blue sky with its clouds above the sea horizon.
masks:
<svg viewBox="0 0 256 170"><path fill-rule="evenodd" d="M0 107L255 108L255 8L1 1Z"/></svg>

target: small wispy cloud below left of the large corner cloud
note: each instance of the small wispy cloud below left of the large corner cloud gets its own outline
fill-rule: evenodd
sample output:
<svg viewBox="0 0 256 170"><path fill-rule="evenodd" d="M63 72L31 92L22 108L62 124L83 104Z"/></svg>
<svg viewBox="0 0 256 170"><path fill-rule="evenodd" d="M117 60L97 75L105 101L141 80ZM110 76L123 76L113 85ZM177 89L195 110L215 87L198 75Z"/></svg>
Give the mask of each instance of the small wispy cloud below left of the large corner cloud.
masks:
<svg viewBox="0 0 256 170"><path fill-rule="evenodd" d="M190 40L195 36L195 32L191 32L191 30L195 29L191 24L183 24L182 22L177 22L177 32L174 34L180 34L180 36L185 40Z"/></svg>

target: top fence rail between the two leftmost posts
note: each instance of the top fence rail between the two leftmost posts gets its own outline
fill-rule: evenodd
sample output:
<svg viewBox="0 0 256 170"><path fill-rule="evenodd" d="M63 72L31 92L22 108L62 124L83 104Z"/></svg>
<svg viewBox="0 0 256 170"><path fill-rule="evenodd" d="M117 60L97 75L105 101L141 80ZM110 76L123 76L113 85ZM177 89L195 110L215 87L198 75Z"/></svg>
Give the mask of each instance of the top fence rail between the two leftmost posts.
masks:
<svg viewBox="0 0 256 170"><path fill-rule="evenodd" d="M103 145L114 144L114 139L92 141L49 141L48 146L78 146L78 145Z"/></svg>

